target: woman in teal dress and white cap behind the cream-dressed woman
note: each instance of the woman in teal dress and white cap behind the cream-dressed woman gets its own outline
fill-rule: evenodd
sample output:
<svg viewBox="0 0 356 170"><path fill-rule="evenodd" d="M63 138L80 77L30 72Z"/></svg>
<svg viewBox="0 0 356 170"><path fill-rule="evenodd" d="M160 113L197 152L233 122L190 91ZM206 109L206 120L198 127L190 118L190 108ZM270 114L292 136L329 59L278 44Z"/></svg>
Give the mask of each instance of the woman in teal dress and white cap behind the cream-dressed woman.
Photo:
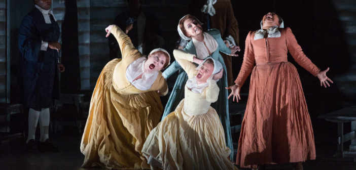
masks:
<svg viewBox="0 0 356 170"><path fill-rule="evenodd" d="M221 80L217 82L220 93L218 101L212 103L211 106L215 108L219 114L221 123L224 127L225 139L227 146L231 149L233 153L232 139L231 139L231 130L230 130L230 119L229 119L229 106L228 106L228 91L225 89L227 87L227 75L226 75L226 66L222 56L219 51L226 53L231 56L237 56L235 54L239 51L238 47L233 47L232 49L228 48L223 39L221 38L220 31L218 29L210 29L206 32L202 31L201 22L192 15L184 16L178 26L178 33L183 39L191 40L187 46L183 49L185 52L194 54L200 60L204 60L206 57L212 57L215 60L220 61L224 67L224 74ZM184 98L184 86L188 79L187 73L182 69L178 62L174 61L164 72L163 77L168 78L176 71L179 71L179 75L176 78L173 91L171 92L162 120L169 113L174 111L176 106ZM231 160L233 160L233 154L230 155Z"/></svg>

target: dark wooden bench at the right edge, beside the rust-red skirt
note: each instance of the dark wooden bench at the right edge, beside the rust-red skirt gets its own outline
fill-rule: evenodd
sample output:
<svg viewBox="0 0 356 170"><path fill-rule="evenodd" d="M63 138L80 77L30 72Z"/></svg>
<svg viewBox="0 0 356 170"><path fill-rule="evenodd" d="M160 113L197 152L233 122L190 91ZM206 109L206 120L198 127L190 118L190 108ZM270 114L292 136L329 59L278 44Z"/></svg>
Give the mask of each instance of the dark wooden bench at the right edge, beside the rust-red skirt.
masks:
<svg viewBox="0 0 356 170"><path fill-rule="evenodd" d="M318 116L327 121L337 123L337 153L335 157L353 157L356 160L356 106L343 108L325 115ZM344 123L351 122L351 132L344 134ZM351 141L348 151L344 151L344 142Z"/></svg>

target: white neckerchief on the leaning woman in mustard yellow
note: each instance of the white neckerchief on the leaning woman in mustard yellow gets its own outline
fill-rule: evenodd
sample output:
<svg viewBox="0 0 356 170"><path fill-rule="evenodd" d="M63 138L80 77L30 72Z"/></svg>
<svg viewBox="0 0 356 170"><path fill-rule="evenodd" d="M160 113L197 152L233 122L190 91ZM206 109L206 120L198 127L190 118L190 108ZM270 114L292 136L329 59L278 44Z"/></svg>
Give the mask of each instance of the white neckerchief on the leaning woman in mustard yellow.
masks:
<svg viewBox="0 0 356 170"><path fill-rule="evenodd" d="M140 57L133 61L126 69L127 80L138 90L146 91L151 89L152 84L155 82L158 76L158 71L153 73L146 73L145 62L146 57ZM142 77L134 80L137 76L142 74ZM133 81L134 80L134 81Z"/></svg>

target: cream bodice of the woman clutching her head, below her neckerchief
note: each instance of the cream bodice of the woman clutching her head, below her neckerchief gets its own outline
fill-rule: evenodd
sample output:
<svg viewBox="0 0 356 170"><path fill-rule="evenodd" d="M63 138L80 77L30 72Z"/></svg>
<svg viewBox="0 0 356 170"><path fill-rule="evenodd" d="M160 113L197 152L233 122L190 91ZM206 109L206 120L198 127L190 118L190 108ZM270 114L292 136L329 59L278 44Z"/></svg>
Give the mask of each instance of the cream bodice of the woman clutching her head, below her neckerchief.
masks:
<svg viewBox="0 0 356 170"><path fill-rule="evenodd" d="M188 115L205 114L210 108L211 102L206 100L204 93L194 93L185 86L184 112Z"/></svg>

